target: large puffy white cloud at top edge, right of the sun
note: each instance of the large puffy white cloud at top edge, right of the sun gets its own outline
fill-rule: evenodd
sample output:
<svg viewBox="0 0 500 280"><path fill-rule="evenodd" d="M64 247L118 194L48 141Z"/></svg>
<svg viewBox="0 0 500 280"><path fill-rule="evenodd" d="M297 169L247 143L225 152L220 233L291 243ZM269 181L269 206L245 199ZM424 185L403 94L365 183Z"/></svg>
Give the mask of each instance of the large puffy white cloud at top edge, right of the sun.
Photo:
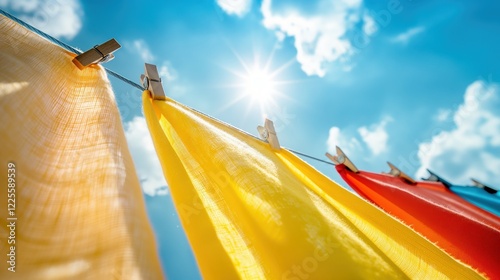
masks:
<svg viewBox="0 0 500 280"><path fill-rule="evenodd" d="M273 7L271 0L264 0L261 6L263 24L267 29L294 38L297 61L307 75L323 77L326 63L347 62L354 53L347 33L357 24L363 23L366 33L359 31L363 36L377 31L361 0L320 0L316 4L307 4L308 7L315 6L316 10L307 13L292 4L280 9Z"/></svg>

